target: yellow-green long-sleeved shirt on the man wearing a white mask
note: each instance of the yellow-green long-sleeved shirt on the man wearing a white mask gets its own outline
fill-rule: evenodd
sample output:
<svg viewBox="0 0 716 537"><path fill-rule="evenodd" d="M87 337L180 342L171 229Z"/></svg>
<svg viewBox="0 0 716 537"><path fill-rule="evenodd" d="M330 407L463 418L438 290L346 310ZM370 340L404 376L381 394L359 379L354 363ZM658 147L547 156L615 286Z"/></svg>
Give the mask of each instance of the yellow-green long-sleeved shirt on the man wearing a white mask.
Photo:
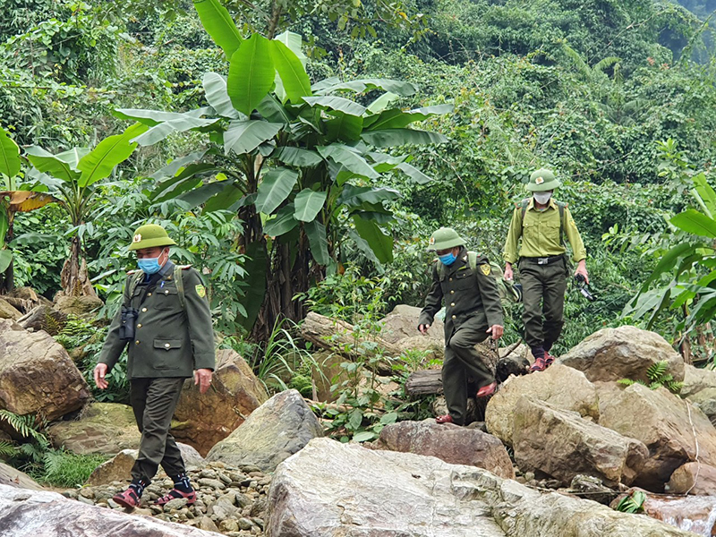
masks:
<svg viewBox="0 0 716 537"><path fill-rule="evenodd" d="M572 245L572 260L575 262L586 259L582 237L575 225L575 219L565 207L564 221L562 222L564 234ZM515 263L521 257L550 257L561 255L567 251L564 244L559 242L559 209L554 200L550 199L547 209L539 211L534 209L534 198L527 205L522 218L522 205L517 205L512 213L512 221L505 241L504 258L507 263ZM517 244L522 237L522 248L517 255Z"/></svg>

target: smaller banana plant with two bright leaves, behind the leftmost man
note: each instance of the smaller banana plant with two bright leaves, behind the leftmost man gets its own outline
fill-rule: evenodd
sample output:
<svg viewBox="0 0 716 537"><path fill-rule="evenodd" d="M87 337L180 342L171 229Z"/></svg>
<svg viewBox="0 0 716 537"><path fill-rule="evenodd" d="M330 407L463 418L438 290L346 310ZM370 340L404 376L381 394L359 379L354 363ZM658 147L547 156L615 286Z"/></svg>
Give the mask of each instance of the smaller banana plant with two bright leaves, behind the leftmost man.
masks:
<svg viewBox="0 0 716 537"><path fill-rule="evenodd" d="M146 125L133 124L122 134L100 141L94 149L72 148L56 155L39 146L25 150L34 166L32 173L67 213L74 232L60 275L67 296L96 295L87 273L80 230L91 225L88 217L98 201L98 184L132 155L137 147L132 139L147 130Z"/></svg>

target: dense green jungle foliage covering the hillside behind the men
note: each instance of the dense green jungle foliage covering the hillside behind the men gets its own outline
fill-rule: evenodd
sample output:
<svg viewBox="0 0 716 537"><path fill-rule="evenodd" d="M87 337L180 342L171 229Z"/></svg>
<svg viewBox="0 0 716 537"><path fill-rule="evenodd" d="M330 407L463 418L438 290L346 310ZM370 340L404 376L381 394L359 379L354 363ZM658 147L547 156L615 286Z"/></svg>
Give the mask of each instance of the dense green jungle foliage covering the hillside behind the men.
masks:
<svg viewBox="0 0 716 537"><path fill-rule="evenodd" d="M501 265L514 204L542 166L563 180L555 196L569 203L584 238L597 297L588 302L567 286L556 354L600 328L636 324L658 331L687 360L713 363L712 0L221 4L243 38L300 35L311 83L412 85L394 87L391 99L404 110L432 107L416 125L434 137L389 144L391 155L410 156L409 173L387 166L354 181L363 189L362 217L345 196L328 199L324 216L312 215L322 221L302 220L294 235L268 233L282 221L286 199L276 207L262 200L271 205L266 214L255 188L251 202L248 191L217 201L227 194L214 187L232 174L238 183L246 162L211 153L221 144L203 127L140 144L91 190L63 190L38 165L47 164L42 158L127 132L138 117L127 109L207 106L205 74L232 76L226 47L204 29L199 7L182 0L0 0L0 127L22 155L20 170L3 174L12 224L0 226L3 285L31 286L48 298L94 292L106 302L97 320L76 320L58 335L69 349L83 346L88 376L125 272L135 268L127 251L132 231L147 220L166 226L179 244L176 261L204 273L219 345L239 351L280 389L301 383L301 356L311 349L295 337L294 322L307 311L358 326L398 303L422 304L430 285L425 246L438 226L455 227L471 250ZM371 90L380 89L369 84L351 98L368 107L380 95ZM209 161L191 158L198 150L209 150ZM15 212L16 191L51 192L60 201ZM328 213L336 217L332 227ZM312 233L321 226L327 246L319 253ZM276 238L282 233L283 242ZM93 289L63 281L72 258L78 269L86 260ZM506 311L505 341L514 343L520 305L507 303ZM291 374L275 374L281 367ZM113 388L95 396L123 401L126 384L119 368Z"/></svg>

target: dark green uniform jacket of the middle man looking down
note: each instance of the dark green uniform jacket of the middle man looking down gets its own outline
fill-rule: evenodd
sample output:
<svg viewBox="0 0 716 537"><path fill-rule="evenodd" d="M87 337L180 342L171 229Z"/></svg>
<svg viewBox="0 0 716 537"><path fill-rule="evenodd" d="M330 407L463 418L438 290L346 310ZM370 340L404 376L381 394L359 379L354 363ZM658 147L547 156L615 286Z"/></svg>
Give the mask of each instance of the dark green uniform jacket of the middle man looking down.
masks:
<svg viewBox="0 0 716 537"><path fill-rule="evenodd" d="M482 315L487 316L488 326L502 325L502 304L499 302L499 290L494 275L490 271L490 262L484 256L477 257L477 268L470 268L467 251L460 250L457 260L446 267L440 277L438 266L432 268L432 286L425 298L418 324L432 324L445 297L445 341L458 328L480 328Z"/></svg>

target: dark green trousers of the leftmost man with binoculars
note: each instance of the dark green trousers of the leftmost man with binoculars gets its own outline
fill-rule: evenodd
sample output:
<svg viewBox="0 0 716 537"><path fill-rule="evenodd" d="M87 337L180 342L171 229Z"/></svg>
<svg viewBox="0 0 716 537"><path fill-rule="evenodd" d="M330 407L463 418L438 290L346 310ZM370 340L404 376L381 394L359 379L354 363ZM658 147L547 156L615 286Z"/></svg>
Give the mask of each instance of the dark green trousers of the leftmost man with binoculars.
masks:
<svg viewBox="0 0 716 537"><path fill-rule="evenodd" d="M132 379L131 383L130 403L141 432L140 453L132 466L132 479L151 482L159 465L170 476L184 473L182 452L169 434L184 379Z"/></svg>

